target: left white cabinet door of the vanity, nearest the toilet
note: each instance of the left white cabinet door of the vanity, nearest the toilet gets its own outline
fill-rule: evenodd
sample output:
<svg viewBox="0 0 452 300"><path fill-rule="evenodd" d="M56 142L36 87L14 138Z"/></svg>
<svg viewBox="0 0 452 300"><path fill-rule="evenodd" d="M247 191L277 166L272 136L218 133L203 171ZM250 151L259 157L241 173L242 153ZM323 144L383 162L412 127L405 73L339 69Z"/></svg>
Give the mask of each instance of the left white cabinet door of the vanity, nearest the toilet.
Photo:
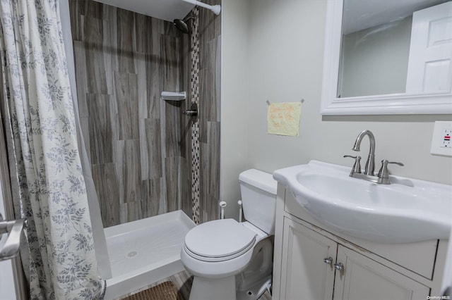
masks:
<svg viewBox="0 0 452 300"><path fill-rule="evenodd" d="M331 239L284 218L279 299L331 300L336 250L337 244ZM323 261L328 257L333 263Z"/></svg>

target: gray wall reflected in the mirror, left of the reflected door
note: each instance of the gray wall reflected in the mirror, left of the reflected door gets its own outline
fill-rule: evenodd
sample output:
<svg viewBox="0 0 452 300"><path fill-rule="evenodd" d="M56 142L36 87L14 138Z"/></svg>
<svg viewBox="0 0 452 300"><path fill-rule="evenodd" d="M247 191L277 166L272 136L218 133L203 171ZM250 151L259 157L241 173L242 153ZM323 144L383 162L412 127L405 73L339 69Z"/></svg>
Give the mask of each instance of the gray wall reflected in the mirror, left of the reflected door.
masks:
<svg viewBox="0 0 452 300"><path fill-rule="evenodd" d="M341 97L404 93L412 17L343 36Z"/></svg>

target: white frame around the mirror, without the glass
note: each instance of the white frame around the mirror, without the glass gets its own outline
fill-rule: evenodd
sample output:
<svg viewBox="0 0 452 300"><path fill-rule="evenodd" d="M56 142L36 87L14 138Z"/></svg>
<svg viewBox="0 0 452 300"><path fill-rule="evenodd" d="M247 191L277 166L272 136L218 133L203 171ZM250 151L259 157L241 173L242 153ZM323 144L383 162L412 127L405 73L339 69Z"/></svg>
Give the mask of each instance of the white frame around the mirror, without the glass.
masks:
<svg viewBox="0 0 452 300"><path fill-rule="evenodd" d="M452 92L441 94L386 94L338 98L343 1L327 0L323 56L322 115L450 114Z"/></svg>

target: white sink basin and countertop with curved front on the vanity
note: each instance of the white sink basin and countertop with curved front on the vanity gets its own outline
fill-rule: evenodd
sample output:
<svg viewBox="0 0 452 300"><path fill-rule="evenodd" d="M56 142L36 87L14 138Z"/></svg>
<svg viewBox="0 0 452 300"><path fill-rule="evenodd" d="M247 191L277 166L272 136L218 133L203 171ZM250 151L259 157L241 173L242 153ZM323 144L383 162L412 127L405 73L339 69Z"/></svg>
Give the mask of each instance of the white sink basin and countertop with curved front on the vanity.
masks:
<svg viewBox="0 0 452 300"><path fill-rule="evenodd" d="M345 235L387 244L449 238L451 185L397 176L377 185L349 177L350 169L310 161L273 177L316 220Z"/></svg>

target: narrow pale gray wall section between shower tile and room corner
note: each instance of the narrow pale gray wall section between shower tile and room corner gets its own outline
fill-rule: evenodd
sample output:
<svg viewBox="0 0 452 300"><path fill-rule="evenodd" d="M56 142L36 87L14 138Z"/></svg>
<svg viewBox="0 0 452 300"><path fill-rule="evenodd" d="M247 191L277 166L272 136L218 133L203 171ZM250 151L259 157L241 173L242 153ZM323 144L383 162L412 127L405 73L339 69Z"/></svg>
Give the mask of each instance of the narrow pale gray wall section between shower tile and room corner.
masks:
<svg viewBox="0 0 452 300"><path fill-rule="evenodd" d="M239 173L249 168L249 30L251 1L222 1L221 197L238 218Z"/></svg>

